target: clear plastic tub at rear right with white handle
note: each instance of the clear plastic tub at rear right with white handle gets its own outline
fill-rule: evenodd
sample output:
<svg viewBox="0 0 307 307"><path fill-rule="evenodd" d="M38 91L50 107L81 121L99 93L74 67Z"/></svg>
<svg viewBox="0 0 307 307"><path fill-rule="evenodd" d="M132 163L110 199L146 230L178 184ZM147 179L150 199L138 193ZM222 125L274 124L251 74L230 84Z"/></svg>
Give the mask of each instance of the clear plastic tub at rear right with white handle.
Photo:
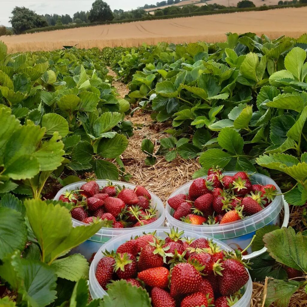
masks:
<svg viewBox="0 0 307 307"><path fill-rule="evenodd" d="M224 175L233 176L236 172L225 172ZM206 178L204 176L203 178ZM190 185L193 181L182 185L178 188L169 198L177 195L177 194L187 194ZM261 184L261 185L275 185L278 194L281 193L280 188L271 178L255 173L251 175L251 182L253 184ZM188 223L184 223L182 221L176 220L173 218L173 209L166 204L165 214L167 219L167 226L174 226L181 229L191 230L200 232L205 235L210 235L215 239L221 240L223 243L227 244L229 247L233 249L242 248L243 250L250 244L251 239L255 235L255 231L259 228L262 228L268 224L279 225L279 213L282 210L282 206L284 203L285 207L285 217L284 223L282 226L287 226L289 222L289 207L288 204L283 201L283 197L281 195L276 196L272 203L264 208L262 211L254 214L253 216L247 217L243 220L236 221L233 223L226 224L216 224L216 225L192 225ZM246 259L254 258L258 255L261 255L266 250L262 249L261 253L254 252L252 253L251 248L247 250L248 255L245 256Z"/></svg>

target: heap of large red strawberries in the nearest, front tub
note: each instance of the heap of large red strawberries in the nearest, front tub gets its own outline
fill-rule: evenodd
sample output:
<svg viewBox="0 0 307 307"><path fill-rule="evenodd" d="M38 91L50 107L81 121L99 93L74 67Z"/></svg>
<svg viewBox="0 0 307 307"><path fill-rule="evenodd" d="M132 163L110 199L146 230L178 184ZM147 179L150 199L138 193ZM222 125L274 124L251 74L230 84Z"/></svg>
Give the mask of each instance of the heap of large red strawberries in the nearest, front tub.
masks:
<svg viewBox="0 0 307 307"><path fill-rule="evenodd" d="M227 253L207 239L182 239L174 228L165 239L155 233L136 237L116 252L104 252L95 276L107 290L111 280L124 279L145 288L153 307L233 305L249 275L242 254Z"/></svg>

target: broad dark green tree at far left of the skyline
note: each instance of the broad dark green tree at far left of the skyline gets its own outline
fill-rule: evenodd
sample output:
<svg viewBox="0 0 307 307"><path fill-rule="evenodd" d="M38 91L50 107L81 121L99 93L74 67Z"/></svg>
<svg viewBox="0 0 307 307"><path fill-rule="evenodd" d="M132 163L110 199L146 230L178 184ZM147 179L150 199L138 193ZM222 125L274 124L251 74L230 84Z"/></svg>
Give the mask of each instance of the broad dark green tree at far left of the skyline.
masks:
<svg viewBox="0 0 307 307"><path fill-rule="evenodd" d="M20 34L28 29L48 26L44 17L41 17L24 6L16 6L14 10L12 10L12 15L13 16L10 17L10 23L12 24L13 31L16 34Z"/></svg>

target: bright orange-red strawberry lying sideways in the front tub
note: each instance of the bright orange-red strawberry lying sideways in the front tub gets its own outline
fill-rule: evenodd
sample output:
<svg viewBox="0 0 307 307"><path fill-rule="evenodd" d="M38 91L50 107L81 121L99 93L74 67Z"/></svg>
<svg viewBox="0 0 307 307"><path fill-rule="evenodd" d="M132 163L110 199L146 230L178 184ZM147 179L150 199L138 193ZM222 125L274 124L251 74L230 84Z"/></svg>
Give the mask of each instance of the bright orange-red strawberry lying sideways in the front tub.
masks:
<svg viewBox="0 0 307 307"><path fill-rule="evenodd" d="M150 268L139 272L138 279L150 287L163 289L169 285L169 270L163 266Z"/></svg>

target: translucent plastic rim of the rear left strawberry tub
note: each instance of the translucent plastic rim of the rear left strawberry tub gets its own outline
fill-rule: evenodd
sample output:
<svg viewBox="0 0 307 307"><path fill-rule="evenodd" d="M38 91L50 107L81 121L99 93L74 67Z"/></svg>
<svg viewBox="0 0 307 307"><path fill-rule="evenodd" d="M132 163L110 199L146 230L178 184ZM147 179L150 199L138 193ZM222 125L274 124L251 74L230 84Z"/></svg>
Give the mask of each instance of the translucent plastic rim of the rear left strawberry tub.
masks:
<svg viewBox="0 0 307 307"><path fill-rule="evenodd" d="M105 179L97 179L97 180L95 180L98 184L99 183L109 183L110 181L108 181L108 180L105 180ZM117 184L117 185L120 185L120 186L124 186L124 185L126 185L126 186L130 186L130 187L133 187L133 188L135 188L136 187L136 185L134 185L134 184L131 184L131 183L128 183L128 182L123 182L123 181L116 181L116 180L111 180L111 182L113 183L113 184ZM56 193L56 196L53 198L54 200L59 200L59 198L60 198L60 196L62 195L62 193L63 192L65 192L65 191L71 191L69 188L70 187L72 187L72 186L75 186L75 185L80 185L80 186L82 186L82 185L84 185L86 183L86 181L77 181L77 182L74 182L74 183L71 183L71 184L69 184L69 185L66 185L66 186L64 186L63 188L61 188L57 193ZM154 198L156 198L157 200L156 200L156 202L157 203L159 203L160 202L160 205L161 205L161 208L162 208L162 206L163 206L163 208L164 208L164 210L161 212L161 216L159 216L158 218L157 218L157 220L156 221L154 221L153 223L150 223L150 225L151 224L153 224L153 226L155 226L155 225L157 225L157 227L160 227L162 224L163 224L163 221L165 220L165 207L164 207L164 204L163 204L163 202L162 202L162 200L157 196L157 195L155 195L155 194L153 194L152 192L150 192L150 191L148 191L149 193L150 193L150 195L152 196L152 197L154 197ZM83 223L83 222L81 222L81 221L78 221L78 220L76 220L76 219L74 219L74 218L72 218L72 222L73 223L76 223L76 224L79 224L78 226L88 226L88 224L87 223ZM135 229L147 229L148 228L148 225L149 224L147 224L147 225L143 225L143 226L138 226L138 227L134 227ZM100 232L101 231L124 231L124 232L127 232L127 231L131 231L131 229L133 229L133 228L111 228L111 227L101 227L100 229L99 229L99 231L96 233L96 234L101 234ZM93 240L93 241L95 241L95 240ZM95 242L99 242L99 241L95 241Z"/></svg>

